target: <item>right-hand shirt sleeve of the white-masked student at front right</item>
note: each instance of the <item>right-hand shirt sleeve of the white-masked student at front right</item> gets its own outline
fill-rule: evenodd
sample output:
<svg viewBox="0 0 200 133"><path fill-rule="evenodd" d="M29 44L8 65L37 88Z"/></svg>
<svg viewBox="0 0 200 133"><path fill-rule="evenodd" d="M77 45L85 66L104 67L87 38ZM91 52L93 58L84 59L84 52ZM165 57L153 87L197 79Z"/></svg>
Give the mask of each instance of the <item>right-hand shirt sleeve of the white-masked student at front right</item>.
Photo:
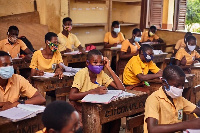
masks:
<svg viewBox="0 0 200 133"><path fill-rule="evenodd" d="M186 113L186 114L190 114L192 113L195 108L196 108L196 105L191 103L190 101L188 101L187 99L185 99L184 97L182 97L183 99L183 111Z"/></svg>

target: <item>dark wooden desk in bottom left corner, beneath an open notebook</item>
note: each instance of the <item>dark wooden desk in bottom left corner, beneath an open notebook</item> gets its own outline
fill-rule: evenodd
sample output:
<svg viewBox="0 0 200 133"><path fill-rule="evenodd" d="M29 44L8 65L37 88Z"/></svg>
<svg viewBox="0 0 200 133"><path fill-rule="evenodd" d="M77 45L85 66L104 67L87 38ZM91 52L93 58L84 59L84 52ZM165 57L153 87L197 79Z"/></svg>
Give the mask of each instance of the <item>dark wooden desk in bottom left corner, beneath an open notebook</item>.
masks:
<svg viewBox="0 0 200 133"><path fill-rule="evenodd" d="M7 118L0 117L1 133L35 133L43 128L42 113L37 114L33 118L18 122L12 122Z"/></svg>

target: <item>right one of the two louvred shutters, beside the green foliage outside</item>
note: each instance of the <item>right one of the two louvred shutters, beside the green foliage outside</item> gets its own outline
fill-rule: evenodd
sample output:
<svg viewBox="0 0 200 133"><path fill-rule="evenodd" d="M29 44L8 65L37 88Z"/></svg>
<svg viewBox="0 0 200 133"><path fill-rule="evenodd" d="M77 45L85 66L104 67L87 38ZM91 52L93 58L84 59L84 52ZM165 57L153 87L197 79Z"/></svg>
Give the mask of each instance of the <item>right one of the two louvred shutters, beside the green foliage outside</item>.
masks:
<svg viewBox="0 0 200 133"><path fill-rule="evenodd" d="M179 0L177 5L177 30L185 29L187 0Z"/></svg>

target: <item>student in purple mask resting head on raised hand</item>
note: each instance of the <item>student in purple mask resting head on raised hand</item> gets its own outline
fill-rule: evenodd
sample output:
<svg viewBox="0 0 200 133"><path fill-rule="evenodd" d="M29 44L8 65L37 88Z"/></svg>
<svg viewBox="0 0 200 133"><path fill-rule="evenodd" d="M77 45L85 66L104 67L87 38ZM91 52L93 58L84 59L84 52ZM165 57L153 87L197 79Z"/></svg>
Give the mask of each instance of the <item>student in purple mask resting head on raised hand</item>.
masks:
<svg viewBox="0 0 200 133"><path fill-rule="evenodd" d="M80 115L82 105L77 101L83 99L87 94L105 94L109 85L115 89L125 90L119 77L111 69L109 60L103 57L100 51L89 51L86 64L87 67L76 73L69 94L69 100ZM113 79L104 73L103 67L107 68ZM119 132L120 122L116 120L114 123L118 126L111 128L111 133Z"/></svg>

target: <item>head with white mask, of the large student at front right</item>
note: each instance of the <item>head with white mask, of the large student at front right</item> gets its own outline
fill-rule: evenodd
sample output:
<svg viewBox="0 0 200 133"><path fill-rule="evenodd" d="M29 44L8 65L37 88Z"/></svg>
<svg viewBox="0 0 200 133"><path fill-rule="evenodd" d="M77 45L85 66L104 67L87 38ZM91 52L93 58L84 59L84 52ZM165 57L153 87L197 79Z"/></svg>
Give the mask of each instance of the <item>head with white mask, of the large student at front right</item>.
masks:
<svg viewBox="0 0 200 133"><path fill-rule="evenodd" d="M163 89L171 98L182 96L185 83L185 73L179 66L170 65L163 70Z"/></svg>

